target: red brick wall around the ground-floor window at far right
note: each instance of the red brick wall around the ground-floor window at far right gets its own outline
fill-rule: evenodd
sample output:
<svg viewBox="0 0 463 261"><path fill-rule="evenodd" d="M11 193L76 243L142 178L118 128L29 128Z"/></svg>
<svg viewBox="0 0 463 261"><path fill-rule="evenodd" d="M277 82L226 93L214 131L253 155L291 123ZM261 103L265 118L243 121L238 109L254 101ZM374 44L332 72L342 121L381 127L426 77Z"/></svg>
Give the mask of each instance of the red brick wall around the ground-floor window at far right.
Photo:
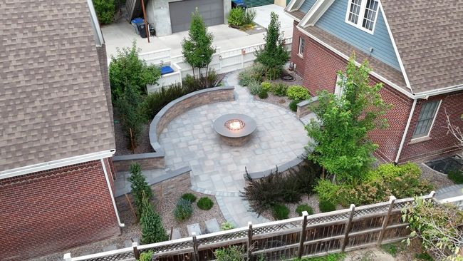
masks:
<svg viewBox="0 0 463 261"><path fill-rule="evenodd" d="M435 100L442 100L442 103L439 111L437 111L436 120L431 128L429 138L422 142L410 143L418 117L420 116L422 103L426 102L426 100L417 101L399 162L420 158L439 158L439 155L443 153L456 150L454 145L457 144L457 139L453 135L447 134L447 129L444 128L446 126L445 110L450 115L452 123L463 129L463 121L460 118L463 114L463 92L459 91L442 96L432 96L428 99L428 101Z"/></svg>

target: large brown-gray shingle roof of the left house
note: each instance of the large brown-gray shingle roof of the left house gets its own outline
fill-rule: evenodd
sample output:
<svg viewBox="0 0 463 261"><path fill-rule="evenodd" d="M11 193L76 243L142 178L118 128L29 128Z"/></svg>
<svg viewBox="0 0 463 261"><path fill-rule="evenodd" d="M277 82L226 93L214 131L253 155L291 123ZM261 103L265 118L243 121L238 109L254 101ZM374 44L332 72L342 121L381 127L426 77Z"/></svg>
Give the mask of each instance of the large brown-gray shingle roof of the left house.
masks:
<svg viewBox="0 0 463 261"><path fill-rule="evenodd" d="M7 1L0 14L0 171L114 149L86 1Z"/></svg>

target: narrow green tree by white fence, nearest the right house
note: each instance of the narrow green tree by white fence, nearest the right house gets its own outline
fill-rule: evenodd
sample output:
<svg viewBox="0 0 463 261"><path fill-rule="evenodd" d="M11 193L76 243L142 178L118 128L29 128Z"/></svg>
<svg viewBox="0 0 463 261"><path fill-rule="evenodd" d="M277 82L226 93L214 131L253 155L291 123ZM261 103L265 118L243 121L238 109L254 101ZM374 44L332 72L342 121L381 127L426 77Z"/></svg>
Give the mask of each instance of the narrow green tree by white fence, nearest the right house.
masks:
<svg viewBox="0 0 463 261"><path fill-rule="evenodd" d="M266 67L266 76L276 78L286 61L289 60L289 51L286 50L283 35L280 34L278 15L274 12L270 14L270 24L266 31L265 46L256 51L256 62Z"/></svg>

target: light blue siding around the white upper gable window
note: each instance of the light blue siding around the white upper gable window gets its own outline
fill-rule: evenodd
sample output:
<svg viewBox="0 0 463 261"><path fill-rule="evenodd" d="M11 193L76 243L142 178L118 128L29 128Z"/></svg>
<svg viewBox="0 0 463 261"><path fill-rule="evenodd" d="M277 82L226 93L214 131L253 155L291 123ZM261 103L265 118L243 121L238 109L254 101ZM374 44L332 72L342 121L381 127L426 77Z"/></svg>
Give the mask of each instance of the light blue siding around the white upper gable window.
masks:
<svg viewBox="0 0 463 261"><path fill-rule="evenodd" d="M337 36L339 39L365 53L370 53L370 48L373 47L373 57L400 71L399 61L395 55L381 10L378 9L378 19L373 35L368 34L345 22L345 14L349 1L335 0L328 10L326 10L325 14L316 22L315 26Z"/></svg>

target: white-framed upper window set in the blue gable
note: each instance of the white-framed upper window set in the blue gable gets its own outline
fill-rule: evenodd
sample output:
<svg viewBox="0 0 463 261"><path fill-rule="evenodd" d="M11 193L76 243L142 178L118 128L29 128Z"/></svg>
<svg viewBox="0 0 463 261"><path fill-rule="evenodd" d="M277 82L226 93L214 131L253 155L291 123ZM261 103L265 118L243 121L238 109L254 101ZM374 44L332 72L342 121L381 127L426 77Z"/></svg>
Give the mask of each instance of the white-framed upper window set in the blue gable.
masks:
<svg viewBox="0 0 463 261"><path fill-rule="evenodd" d="M349 0L349 3L345 21L373 34L378 18L378 0Z"/></svg>

